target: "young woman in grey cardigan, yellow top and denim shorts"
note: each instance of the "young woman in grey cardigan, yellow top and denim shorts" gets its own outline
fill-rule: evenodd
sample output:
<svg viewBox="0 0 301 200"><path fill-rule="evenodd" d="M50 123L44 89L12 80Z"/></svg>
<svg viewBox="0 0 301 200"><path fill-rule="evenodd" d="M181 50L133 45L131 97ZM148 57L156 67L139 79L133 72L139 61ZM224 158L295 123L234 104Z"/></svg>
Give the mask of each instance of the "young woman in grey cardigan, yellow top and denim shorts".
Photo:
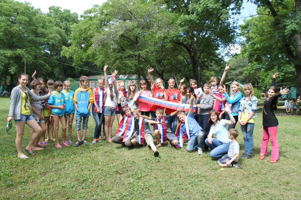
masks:
<svg viewBox="0 0 301 200"><path fill-rule="evenodd" d="M22 153L22 137L24 135L25 124L34 130L32 137L30 138L28 146L25 148L25 151L30 155L35 155L33 150L37 150L37 147L34 146L34 141L42 132L39 124L31 116L30 100L40 101L47 99L51 95L51 91L48 92L48 95L45 96L36 96L30 89L26 87L28 83L27 74L21 74L19 76L19 85L14 87L11 91L11 102L9 107L9 114L7 122L15 120L16 124L16 147L18 151L18 157L21 159L29 158Z"/></svg>

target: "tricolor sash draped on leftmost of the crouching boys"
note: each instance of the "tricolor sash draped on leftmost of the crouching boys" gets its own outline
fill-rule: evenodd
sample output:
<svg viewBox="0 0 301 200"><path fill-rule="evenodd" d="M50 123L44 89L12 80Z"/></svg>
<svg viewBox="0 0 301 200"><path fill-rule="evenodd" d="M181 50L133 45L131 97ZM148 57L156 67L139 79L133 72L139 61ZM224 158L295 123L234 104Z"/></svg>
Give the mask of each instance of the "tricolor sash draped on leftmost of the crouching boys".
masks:
<svg viewBox="0 0 301 200"><path fill-rule="evenodd" d="M134 115L131 116L124 115L122 120L119 123L116 135L123 135L122 142L127 141L131 138L134 130Z"/></svg>

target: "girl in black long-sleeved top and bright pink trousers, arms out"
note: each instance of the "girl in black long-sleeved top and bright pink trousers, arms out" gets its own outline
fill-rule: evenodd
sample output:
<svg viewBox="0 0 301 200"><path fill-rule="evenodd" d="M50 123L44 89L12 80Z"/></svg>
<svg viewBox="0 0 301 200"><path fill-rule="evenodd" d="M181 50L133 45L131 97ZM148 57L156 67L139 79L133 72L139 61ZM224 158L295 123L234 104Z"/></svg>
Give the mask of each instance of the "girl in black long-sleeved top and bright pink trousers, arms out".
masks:
<svg viewBox="0 0 301 200"><path fill-rule="evenodd" d="M270 163L276 163L279 156L279 146L277 141L277 126L278 120L274 114L274 110L277 110L277 99L281 95L288 94L289 89L285 88L278 93L278 88L276 85L276 77L278 72L273 75L272 86L268 90L268 98L263 103L262 110L262 125L263 125L263 136L262 144L260 150L260 159L265 159L265 154L267 154L268 140L271 139L272 151L271 151L271 161Z"/></svg>

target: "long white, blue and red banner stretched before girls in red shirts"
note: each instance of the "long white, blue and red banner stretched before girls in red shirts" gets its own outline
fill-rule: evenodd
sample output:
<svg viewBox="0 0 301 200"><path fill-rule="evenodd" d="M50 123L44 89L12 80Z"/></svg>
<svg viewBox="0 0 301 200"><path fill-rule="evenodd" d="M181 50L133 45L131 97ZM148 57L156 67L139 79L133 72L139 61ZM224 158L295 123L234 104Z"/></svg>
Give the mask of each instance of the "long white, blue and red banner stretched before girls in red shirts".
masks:
<svg viewBox="0 0 301 200"><path fill-rule="evenodd" d="M178 110L178 108L181 108L181 111L189 111L189 104L179 104L179 103L175 103L175 102L163 101L161 99L157 99L157 98L149 97L149 96L141 96L140 95L138 98L138 101L148 103L151 105L161 106L164 108L170 108L173 110ZM194 112L195 112L195 109L196 109L196 105L193 105Z"/></svg>

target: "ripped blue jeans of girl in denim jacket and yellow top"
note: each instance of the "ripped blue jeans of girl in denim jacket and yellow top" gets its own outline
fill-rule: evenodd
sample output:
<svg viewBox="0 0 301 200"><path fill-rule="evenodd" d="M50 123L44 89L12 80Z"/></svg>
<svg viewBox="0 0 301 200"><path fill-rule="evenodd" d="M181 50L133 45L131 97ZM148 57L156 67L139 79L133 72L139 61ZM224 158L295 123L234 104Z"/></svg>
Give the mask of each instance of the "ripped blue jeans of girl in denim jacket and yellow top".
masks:
<svg viewBox="0 0 301 200"><path fill-rule="evenodd" d="M241 131L244 135L244 146L245 146L245 153L248 155L252 155L253 151L253 130L254 130L254 123L247 123L246 126L241 126Z"/></svg>

